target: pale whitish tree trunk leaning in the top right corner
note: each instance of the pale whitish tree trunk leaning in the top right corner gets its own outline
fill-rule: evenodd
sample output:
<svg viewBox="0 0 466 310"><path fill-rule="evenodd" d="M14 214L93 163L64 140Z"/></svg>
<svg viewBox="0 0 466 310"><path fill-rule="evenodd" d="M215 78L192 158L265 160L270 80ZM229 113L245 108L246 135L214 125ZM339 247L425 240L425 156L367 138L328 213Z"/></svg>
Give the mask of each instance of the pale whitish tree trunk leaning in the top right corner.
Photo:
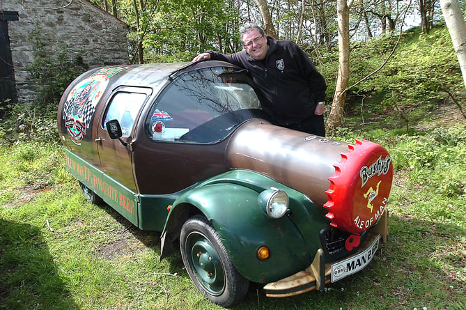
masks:
<svg viewBox="0 0 466 310"><path fill-rule="evenodd" d="M463 82L466 87L466 24L458 0L440 0L446 28L451 36L453 48L460 63Z"/></svg>

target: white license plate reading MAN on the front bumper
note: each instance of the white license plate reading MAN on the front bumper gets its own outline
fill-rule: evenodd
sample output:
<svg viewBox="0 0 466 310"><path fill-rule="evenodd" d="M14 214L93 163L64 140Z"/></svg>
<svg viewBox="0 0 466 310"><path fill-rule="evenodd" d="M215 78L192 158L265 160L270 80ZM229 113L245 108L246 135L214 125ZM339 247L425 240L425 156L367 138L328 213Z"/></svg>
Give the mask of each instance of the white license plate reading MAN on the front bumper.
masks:
<svg viewBox="0 0 466 310"><path fill-rule="evenodd" d="M332 265L332 282L339 281L350 274L356 273L365 268L368 263L371 263L375 252L379 247L380 235L375 238L367 249L361 253L346 258L344 261Z"/></svg>

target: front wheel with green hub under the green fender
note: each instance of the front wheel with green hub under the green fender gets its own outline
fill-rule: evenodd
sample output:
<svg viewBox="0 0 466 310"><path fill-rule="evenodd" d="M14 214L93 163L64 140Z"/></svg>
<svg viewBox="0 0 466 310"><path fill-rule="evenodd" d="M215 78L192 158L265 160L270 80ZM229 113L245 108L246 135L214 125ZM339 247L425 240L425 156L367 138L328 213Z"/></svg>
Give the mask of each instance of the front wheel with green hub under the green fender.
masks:
<svg viewBox="0 0 466 310"><path fill-rule="evenodd" d="M205 217L192 217L182 226L180 252L189 277L211 302L231 307L246 295L249 281L231 263L219 234Z"/></svg>

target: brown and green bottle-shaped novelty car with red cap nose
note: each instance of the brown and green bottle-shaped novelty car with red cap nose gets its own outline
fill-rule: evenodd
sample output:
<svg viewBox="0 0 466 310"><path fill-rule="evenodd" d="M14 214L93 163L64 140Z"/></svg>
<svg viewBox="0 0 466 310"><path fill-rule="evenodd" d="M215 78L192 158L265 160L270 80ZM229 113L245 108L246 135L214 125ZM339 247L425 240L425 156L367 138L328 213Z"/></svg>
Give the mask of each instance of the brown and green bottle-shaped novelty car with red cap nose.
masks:
<svg viewBox="0 0 466 310"><path fill-rule="evenodd" d="M179 247L223 307L250 282L269 297L323 290L387 240L387 150L272 125L234 65L95 68L68 86L57 120L86 199L160 231L161 259Z"/></svg>

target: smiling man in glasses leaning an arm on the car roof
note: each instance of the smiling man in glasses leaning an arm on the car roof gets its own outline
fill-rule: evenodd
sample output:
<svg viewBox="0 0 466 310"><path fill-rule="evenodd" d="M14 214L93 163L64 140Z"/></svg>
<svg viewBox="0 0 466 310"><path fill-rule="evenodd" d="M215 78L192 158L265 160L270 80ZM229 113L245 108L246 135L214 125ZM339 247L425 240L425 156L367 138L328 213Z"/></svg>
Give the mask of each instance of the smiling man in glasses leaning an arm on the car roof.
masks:
<svg viewBox="0 0 466 310"><path fill-rule="evenodd" d="M288 40L277 41L255 24L240 29L241 52L207 51L192 61L227 61L248 69L263 108L275 125L325 137L324 100L327 85L306 54Z"/></svg>

